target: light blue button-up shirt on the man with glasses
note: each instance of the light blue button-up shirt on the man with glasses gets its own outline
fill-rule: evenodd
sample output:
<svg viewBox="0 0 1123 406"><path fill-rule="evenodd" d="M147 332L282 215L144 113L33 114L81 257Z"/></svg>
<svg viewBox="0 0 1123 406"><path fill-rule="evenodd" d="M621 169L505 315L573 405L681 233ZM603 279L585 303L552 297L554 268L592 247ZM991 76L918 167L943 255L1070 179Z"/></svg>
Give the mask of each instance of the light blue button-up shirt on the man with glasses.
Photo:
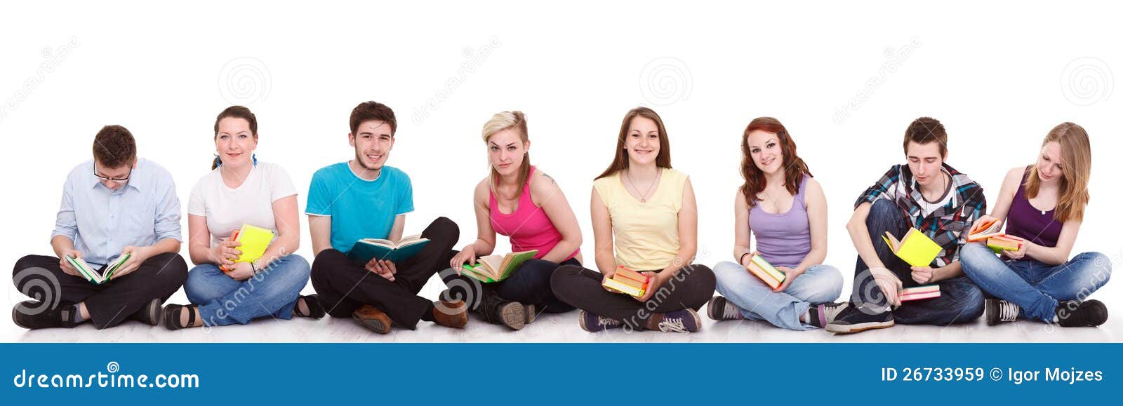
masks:
<svg viewBox="0 0 1123 406"><path fill-rule="evenodd" d="M180 236L180 199L172 174L156 163L138 159L129 181L116 191L93 176L93 160L66 176L63 202L51 238L74 241L88 264L104 265L127 246L146 247Z"/></svg>

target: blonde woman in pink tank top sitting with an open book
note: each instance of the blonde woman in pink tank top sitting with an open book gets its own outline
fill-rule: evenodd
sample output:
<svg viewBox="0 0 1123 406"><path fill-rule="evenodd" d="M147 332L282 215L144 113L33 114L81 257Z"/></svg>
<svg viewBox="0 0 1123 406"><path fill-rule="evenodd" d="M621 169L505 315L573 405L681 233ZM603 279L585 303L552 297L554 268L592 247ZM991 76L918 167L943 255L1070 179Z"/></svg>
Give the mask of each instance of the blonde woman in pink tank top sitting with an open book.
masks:
<svg viewBox="0 0 1123 406"><path fill-rule="evenodd" d="M541 312L573 310L554 296L550 275L560 265L581 265L581 228L562 188L530 165L527 117L504 111L484 123L490 175L476 185L476 240L457 252L441 279L446 299L464 299L491 323L520 330ZM463 276L465 264L477 265L495 250L495 233L508 236L511 251L537 250L501 282L481 283Z"/></svg>

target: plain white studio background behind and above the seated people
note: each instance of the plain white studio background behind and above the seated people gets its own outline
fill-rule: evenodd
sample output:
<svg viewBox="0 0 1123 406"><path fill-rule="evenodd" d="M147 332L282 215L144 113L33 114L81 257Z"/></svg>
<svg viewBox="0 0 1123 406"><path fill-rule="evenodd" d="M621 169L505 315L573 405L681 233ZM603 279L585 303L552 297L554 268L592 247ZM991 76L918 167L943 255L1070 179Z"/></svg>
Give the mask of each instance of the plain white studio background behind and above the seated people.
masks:
<svg viewBox="0 0 1123 406"><path fill-rule="evenodd" d="M350 109L375 100L399 118L389 165L413 181L417 211L407 233L445 215L460 224L458 247L475 238L472 188L487 165L481 127L492 113L522 110L532 162L569 199L590 264L592 179L609 165L629 109L648 105L663 117L673 165L691 175L697 194L697 261L710 266L732 257L745 126L776 117L823 185L825 262L848 280L856 253L844 222L853 200L904 163L910 121L941 120L948 163L982 184L992 203L1006 170L1034 162L1046 132L1074 121L1093 145L1093 199L1074 255L1101 251L1119 267L1116 16L1106 3L1021 2L8 4L0 13L0 262L51 253L63 179L91 158L104 124L127 127L139 155L172 172L185 211L191 187L210 168L214 116L248 105L259 121L257 157L289 170L303 212L312 173L354 154ZM301 220L298 253L311 260ZM8 308L19 297L10 274L0 274L9 290L0 301L0 336L66 340L16 327ZM1117 285L1093 297L1123 310ZM437 292L430 283L422 294ZM185 303L182 292L171 302ZM577 330L575 320L553 322L566 334ZM158 341L161 332L113 340Z"/></svg>

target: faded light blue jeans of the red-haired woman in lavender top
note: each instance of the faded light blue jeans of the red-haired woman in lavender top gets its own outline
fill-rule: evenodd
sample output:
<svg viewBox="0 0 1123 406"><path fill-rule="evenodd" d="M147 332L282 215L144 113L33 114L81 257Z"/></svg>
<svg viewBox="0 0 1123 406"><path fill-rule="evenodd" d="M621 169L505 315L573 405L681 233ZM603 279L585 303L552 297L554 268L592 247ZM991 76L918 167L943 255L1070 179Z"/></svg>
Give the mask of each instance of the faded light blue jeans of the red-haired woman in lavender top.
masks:
<svg viewBox="0 0 1123 406"><path fill-rule="evenodd" d="M814 265L792 280L784 292L773 292L740 264L722 261L713 267L718 293L741 310L749 320L764 320L777 327L812 330L800 315L812 305L834 302L842 293L842 274L830 265Z"/></svg>

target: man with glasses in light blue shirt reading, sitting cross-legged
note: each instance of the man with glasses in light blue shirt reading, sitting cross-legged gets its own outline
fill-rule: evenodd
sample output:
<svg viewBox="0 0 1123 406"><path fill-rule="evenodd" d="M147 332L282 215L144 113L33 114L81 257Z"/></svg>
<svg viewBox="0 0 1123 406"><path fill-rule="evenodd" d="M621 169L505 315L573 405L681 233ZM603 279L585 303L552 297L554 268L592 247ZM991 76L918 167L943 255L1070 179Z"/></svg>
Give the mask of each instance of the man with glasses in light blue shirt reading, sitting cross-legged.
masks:
<svg viewBox="0 0 1123 406"><path fill-rule="evenodd" d="M137 159L133 133L106 126L93 140L93 160L66 177L51 233L55 256L26 256L12 283L33 301L12 308L25 329L73 327L91 321L104 329L125 320L159 323L161 304L183 286L188 265L180 251L180 200L172 175ZM98 270L126 257L103 283L72 264ZM69 257L69 258L67 258Z"/></svg>

